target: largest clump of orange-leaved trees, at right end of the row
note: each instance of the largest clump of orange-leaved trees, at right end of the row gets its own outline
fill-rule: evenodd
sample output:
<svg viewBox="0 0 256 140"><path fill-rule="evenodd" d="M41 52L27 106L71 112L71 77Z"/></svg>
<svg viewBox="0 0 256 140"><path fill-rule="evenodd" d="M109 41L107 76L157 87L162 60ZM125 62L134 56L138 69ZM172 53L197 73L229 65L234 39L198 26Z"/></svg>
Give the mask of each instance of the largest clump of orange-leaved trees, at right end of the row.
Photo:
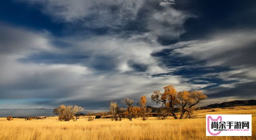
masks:
<svg viewBox="0 0 256 140"><path fill-rule="evenodd" d="M185 113L192 118L191 115L193 114L195 106L206 98L207 96L201 91L181 91L177 93L172 85L164 87L164 93L154 91L151 95L151 100L156 102L157 105L162 103L161 108L164 108L162 109L163 118L173 116L175 119L178 119L175 112L177 108L181 110L180 119L184 117Z"/></svg>

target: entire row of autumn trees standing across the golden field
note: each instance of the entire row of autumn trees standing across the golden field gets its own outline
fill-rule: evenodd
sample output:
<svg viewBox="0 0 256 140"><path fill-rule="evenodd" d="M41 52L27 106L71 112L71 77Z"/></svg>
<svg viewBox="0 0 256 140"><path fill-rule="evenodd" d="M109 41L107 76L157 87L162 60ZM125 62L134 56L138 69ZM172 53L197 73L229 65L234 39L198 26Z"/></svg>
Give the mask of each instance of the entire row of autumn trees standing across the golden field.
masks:
<svg viewBox="0 0 256 140"><path fill-rule="evenodd" d="M180 91L177 92L174 86L168 85L164 87L164 92L154 91L151 95L151 101L156 105L161 105L160 112L158 112L158 118L165 119L168 116L174 117L174 119L194 118L194 110L198 105L206 99L207 96L201 91ZM109 106L109 114L111 120L120 121L122 118L128 118L132 121L133 118L141 117L142 120L146 120L152 112L151 108L146 106L146 97L142 96L140 101L137 102L137 106L133 106L134 101L126 98L121 100L121 103L125 107L118 106L117 102L111 102ZM54 114L58 115L61 121L70 121L73 119L76 121L81 111L84 110L81 106L64 106L60 105L54 109ZM178 114L180 116L178 117ZM92 121L94 116L92 113L88 113L88 121Z"/></svg>

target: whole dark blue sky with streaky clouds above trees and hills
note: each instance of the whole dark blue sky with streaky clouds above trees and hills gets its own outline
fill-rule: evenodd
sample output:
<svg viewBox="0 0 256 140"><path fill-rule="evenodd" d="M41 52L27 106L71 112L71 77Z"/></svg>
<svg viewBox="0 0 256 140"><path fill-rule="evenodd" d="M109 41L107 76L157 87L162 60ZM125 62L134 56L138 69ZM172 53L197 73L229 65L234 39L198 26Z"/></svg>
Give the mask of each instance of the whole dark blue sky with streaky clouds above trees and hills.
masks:
<svg viewBox="0 0 256 140"><path fill-rule="evenodd" d="M256 99L255 0L4 0L0 108L108 110L174 85ZM134 104L135 105L135 104Z"/></svg>

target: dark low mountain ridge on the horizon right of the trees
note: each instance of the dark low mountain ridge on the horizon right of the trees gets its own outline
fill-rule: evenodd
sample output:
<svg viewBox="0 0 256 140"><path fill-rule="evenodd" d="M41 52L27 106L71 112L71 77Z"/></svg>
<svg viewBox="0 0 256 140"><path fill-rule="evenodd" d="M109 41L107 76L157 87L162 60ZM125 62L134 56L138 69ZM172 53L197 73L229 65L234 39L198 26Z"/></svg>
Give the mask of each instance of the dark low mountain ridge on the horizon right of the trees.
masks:
<svg viewBox="0 0 256 140"><path fill-rule="evenodd" d="M200 107L200 109L247 106L247 105L256 105L256 100L247 100L247 101L237 100L237 101L223 102L220 104L216 103L216 104Z"/></svg>

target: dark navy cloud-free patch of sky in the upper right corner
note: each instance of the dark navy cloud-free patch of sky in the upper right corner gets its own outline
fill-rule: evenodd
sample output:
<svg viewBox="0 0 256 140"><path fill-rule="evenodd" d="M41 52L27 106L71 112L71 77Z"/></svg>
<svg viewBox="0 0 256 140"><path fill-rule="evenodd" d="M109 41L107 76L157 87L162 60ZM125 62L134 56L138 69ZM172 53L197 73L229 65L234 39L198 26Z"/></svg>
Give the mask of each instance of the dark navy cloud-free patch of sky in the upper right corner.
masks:
<svg viewBox="0 0 256 140"><path fill-rule="evenodd" d="M177 0L175 8L197 15L184 23L186 33L181 40L204 38L216 31L255 29L254 0Z"/></svg>

